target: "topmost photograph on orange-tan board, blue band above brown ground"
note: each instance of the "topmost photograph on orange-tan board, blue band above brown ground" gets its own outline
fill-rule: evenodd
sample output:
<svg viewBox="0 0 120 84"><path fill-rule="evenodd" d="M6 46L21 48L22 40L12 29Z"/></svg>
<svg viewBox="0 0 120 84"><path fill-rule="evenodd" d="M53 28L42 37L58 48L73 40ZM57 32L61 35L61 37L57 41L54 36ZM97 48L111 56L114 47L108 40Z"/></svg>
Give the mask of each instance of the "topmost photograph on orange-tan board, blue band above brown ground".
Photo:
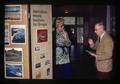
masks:
<svg viewBox="0 0 120 84"><path fill-rule="evenodd" d="M5 5L5 20L21 20L21 9L20 5Z"/></svg>

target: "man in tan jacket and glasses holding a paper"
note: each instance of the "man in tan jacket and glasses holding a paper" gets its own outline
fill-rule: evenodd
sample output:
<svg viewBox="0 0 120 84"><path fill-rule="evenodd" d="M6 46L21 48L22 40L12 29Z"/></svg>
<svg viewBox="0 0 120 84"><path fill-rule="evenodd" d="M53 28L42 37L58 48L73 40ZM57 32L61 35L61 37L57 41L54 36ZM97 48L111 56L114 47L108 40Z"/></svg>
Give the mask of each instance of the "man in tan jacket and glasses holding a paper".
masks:
<svg viewBox="0 0 120 84"><path fill-rule="evenodd" d="M112 71L113 40L105 31L103 22L95 24L95 33L98 36L97 41L94 43L92 39L89 39L88 43L92 49L96 50L96 53L89 53L91 56L95 57L98 79L110 79Z"/></svg>

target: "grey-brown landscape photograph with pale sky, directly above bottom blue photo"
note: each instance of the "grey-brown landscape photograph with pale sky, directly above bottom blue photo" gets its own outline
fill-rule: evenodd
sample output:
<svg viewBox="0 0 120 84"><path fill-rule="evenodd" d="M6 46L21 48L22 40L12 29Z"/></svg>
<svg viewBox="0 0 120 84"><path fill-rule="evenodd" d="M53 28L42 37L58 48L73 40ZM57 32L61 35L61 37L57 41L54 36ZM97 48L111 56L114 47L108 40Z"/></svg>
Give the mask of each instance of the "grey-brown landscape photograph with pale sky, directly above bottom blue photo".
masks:
<svg viewBox="0 0 120 84"><path fill-rule="evenodd" d="M5 48L5 61L22 62L23 50L22 48Z"/></svg>

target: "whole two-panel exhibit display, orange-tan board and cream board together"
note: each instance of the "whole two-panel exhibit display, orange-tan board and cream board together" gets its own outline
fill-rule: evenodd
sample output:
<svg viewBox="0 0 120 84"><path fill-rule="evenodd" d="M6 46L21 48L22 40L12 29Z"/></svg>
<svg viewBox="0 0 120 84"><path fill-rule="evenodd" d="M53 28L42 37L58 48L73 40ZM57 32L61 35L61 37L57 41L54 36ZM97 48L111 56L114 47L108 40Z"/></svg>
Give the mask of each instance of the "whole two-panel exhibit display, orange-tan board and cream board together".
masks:
<svg viewBox="0 0 120 84"><path fill-rule="evenodd" d="M6 79L52 79L51 5L5 5Z"/></svg>

